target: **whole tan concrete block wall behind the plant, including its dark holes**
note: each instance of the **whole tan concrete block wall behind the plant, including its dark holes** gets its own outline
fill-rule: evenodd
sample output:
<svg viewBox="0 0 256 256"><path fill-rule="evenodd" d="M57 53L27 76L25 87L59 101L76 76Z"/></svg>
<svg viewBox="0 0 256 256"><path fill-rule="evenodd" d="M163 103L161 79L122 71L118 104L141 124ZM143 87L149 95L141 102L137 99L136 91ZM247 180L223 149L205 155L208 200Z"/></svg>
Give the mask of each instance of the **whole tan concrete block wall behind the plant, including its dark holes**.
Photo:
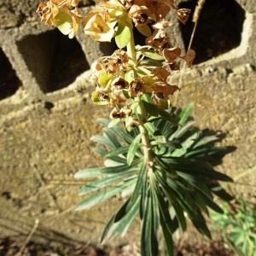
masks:
<svg viewBox="0 0 256 256"><path fill-rule="evenodd" d="M91 104L88 70L113 46L83 32L69 40L42 25L34 15L39 0L5 2L0 1L0 236L26 236L39 218L38 241L96 242L118 200L73 212L81 200L81 182L73 173L101 163L90 136L100 131L94 120L108 109ZM179 4L193 8L195 2ZM193 45L198 58L183 73L177 101L194 102L197 124L225 132L223 143L237 147L220 166L233 176L256 165L253 2L207 0ZM90 4L83 1L85 12ZM175 25L173 40L185 48L190 32L190 23ZM255 176L249 182L255 184Z"/></svg>

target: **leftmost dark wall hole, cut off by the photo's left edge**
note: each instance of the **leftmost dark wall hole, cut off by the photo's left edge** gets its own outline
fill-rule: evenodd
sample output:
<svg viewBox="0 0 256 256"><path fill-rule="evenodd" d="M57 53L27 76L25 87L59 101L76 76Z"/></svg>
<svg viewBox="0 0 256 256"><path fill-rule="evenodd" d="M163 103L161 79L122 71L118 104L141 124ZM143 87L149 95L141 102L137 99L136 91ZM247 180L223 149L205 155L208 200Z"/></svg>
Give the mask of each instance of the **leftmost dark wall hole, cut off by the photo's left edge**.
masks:
<svg viewBox="0 0 256 256"><path fill-rule="evenodd" d="M3 49L0 48L0 100L15 94L21 85Z"/></svg>

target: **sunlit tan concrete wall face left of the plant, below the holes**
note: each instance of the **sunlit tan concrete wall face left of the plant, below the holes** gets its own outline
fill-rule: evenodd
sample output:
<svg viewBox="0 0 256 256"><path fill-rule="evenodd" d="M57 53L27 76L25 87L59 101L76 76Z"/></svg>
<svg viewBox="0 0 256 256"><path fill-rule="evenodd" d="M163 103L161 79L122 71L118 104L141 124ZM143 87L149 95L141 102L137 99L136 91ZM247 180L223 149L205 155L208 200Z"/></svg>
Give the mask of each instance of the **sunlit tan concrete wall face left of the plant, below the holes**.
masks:
<svg viewBox="0 0 256 256"><path fill-rule="evenodd" d="M61 212L82 199L77 196L82 183L73 180L73 173L102 163L93 152L90 136L99 131L92 120L104 115L102 108L78 94L56 102L51 110L38 103L9 118L2 116L1 235L26 234L32 219L39 218L44 228L96 241L112 207L82 214Z"/></svg>

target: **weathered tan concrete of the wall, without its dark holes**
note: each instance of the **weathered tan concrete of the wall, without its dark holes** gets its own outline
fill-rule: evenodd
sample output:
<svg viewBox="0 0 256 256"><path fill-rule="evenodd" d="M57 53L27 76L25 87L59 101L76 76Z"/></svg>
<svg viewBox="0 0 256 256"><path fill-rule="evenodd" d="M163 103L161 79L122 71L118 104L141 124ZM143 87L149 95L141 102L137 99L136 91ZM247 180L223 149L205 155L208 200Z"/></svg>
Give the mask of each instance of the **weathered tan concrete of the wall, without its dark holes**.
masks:
<svg viewBox="0 0 256 256"><path fill-rule="evenodd" d="M238 2L247 11L240 46L186 71L177 101L178 106L194 102L197 124L225 132L224 145L237 147L220 166L233 177L256 165L256 9L254 0ZM5 14L8 4L0 3ZM15 8L15 1L9 3ZM18 7L16 12L22 14ZM21 53L17 42L48 28L34 20L21 25L12 22L15 25L0 31L4 38L0 47L22 85L15 95L0 102L0 234L26 236L39 218L38 240L96 241L116 203L79 214L67 210L81 200L77 195L81 183L73 180L73 173L101 163L89 138L99 131L94 120L107 116L108 109L90 103L86 72L67 88L45 95L36 80L38 73L25 61L25 55L38 50L37 44L33 51ZM3 28L2 20L0 24ZM176 33L180 37L177 28ZM82 34L78 41L89 64L102 55L100 44L92 44ZM47 67L47 59L44 64ZM255 175L248 182L255 185Z"/></svg>

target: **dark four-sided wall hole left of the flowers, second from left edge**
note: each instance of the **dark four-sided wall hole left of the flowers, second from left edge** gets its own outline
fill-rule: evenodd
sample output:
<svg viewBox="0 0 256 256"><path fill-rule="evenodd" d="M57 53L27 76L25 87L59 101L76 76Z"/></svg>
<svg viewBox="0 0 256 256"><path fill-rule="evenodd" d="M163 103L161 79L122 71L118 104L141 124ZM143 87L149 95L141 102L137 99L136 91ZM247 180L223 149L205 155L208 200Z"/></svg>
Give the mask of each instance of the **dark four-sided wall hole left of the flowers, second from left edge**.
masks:
<svg viewBox="0 0 256 256"><path fill-rule="evenodd" d="M90 68L76 38L54 30L17 43L27 67L45 93L61 90Z"/></svg>

